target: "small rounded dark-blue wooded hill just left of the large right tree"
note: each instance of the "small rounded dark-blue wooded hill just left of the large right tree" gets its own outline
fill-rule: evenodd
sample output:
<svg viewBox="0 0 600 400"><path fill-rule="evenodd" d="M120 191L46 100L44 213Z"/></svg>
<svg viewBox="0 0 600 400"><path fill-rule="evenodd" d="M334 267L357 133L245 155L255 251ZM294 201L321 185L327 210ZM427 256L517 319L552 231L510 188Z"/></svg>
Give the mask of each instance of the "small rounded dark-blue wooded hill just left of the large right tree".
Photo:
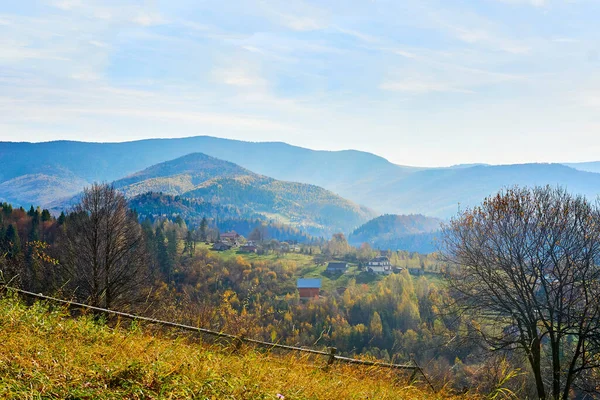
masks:
<svg viewBox="0 0 600 400"><path fill-rule="evenodd" d="M374 218L348 235L354 246L369 243L382 250L435 251L434 238L442 220L420 214L385 214Z"/></svg>

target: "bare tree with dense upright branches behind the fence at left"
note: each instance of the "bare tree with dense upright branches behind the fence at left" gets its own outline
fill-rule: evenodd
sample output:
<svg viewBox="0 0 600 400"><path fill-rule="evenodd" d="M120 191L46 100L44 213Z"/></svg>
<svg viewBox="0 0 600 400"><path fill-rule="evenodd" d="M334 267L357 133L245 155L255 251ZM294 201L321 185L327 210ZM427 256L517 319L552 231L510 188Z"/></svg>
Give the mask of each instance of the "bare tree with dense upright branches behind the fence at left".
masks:
<svg viewBox="0 0 600 400"><path fill-rule="evenodd" d="M62 264L78 296L93 306L135 299L146 277L142 230L112 186L86 188L65 223Z"/></svg>

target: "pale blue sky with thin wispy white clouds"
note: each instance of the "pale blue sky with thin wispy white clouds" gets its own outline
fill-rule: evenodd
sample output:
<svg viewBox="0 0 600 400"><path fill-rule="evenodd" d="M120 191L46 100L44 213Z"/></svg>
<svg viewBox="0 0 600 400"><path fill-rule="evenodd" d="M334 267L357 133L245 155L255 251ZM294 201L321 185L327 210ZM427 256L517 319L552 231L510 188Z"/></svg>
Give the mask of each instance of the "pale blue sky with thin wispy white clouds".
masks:
<svg viewBox="0 0 600 400"><path fill-rule="evenodd" d="M600 160L598 0L0 2L0 141Z"/></svg>

